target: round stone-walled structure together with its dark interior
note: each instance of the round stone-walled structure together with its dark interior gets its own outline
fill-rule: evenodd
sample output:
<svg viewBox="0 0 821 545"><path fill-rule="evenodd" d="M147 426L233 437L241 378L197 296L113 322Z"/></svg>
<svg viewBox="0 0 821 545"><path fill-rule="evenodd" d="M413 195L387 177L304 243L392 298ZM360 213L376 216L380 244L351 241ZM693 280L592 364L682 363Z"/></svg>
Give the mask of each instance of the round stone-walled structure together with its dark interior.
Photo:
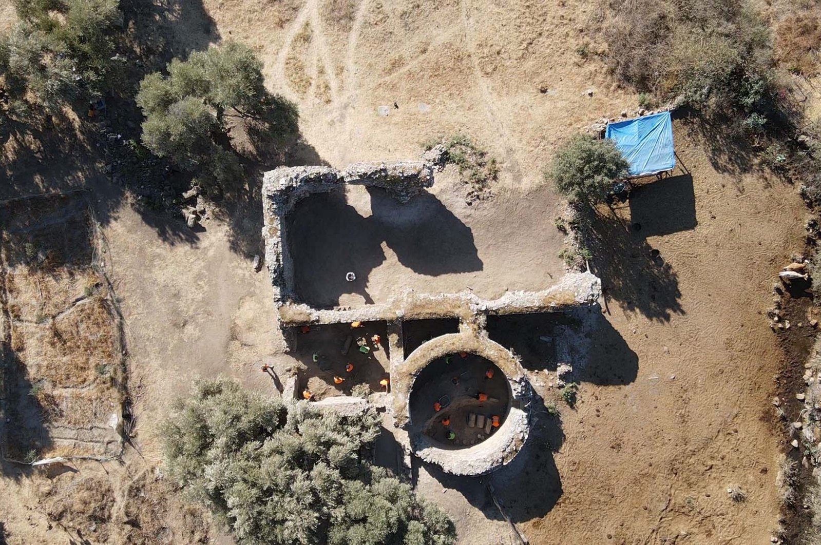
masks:
<svg viewBox="0 0 821 545"><path fill-rule="evenodd" d="M488 369L492 378L485 374ZM526 406L532 390L524 369L509 350L484 335L461 332L427 341L392 379L394 415L408 431L411 450L448 473L480 475L507 464L530 431ZM479 393L488 398L479 399ZM492 422L493 416L498 427L490 426L489 433L485 425L478 427L480 417ZM443 419L450 420L447 426ZM456 437L448 438L449 432Z"/></svg>

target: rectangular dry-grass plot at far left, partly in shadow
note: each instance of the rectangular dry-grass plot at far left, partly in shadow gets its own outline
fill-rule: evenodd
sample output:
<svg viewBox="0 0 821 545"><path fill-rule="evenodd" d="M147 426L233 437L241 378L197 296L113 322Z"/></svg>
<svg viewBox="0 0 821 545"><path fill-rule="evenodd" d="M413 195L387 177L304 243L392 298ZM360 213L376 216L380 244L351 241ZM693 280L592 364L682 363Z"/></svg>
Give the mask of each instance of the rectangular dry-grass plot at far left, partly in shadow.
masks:
<svg viewBox="0 0 821 545"><path fill-rule="evenodd" d="M0 208L9 456L120 450L119 318L85 194Z"/></svg>

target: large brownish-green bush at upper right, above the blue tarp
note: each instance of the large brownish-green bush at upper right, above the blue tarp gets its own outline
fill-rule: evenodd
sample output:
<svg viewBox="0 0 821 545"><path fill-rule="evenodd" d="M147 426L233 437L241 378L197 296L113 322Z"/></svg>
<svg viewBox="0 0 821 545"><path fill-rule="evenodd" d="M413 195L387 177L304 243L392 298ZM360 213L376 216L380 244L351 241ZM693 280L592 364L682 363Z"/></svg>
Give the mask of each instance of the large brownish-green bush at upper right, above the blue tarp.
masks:
<svg viewBox="0 0 821 545"><path fill-rule="evenodd" d="M736 0L611 0L608 64L625 83L696 108L765 113L773 97L768 26Z"/></svg>

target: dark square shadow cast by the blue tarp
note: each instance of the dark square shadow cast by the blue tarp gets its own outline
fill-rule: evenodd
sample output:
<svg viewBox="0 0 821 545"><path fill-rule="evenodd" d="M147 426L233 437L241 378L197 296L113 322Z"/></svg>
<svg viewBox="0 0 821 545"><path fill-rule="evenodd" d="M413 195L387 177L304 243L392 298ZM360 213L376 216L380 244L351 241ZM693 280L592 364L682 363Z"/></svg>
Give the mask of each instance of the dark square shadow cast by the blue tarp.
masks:
<svg viewBox="0 0 821 545"><path fill-rule="evenodd" d="M631 223L637 234L670 235L695 229L693 176L682 174L639 185L630 195Z"/></svg>

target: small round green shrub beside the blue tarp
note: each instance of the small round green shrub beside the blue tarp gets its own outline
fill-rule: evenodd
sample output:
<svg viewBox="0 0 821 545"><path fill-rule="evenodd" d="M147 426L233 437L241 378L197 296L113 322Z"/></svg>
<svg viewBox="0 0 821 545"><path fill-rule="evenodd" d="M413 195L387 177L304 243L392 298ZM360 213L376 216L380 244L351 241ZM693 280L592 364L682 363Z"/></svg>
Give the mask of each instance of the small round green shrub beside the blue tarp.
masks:
<svg viewBox="0 0 821 545"><path fill-rule="evenodd" d="M630 174L629 167L612 140L576 135L556 150L545 177L571 201L595 204L607 199L615 181Z"/></svg>

